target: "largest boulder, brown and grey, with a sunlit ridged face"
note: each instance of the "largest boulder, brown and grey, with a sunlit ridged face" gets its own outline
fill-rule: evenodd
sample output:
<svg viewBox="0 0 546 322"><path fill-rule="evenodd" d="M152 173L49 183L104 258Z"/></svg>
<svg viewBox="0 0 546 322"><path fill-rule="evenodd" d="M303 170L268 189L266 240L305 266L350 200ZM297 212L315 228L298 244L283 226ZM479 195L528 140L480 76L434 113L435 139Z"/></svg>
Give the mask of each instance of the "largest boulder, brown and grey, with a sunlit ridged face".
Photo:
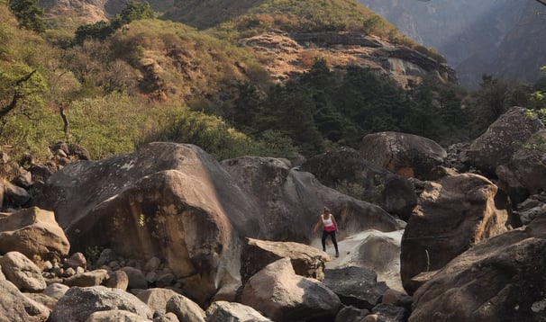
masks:
<svg viewBox="0 0 546 322"><path fill-rule="evenodd" d="M37 203L55 211L73 251L102 246L142 262L161 258L177 278L195 281L184 291L200 303L214 295L223 259L238 257L231 252L239 234L261 231L246 195L192 145L150 143L71 163L50 176Z"/></svg>

